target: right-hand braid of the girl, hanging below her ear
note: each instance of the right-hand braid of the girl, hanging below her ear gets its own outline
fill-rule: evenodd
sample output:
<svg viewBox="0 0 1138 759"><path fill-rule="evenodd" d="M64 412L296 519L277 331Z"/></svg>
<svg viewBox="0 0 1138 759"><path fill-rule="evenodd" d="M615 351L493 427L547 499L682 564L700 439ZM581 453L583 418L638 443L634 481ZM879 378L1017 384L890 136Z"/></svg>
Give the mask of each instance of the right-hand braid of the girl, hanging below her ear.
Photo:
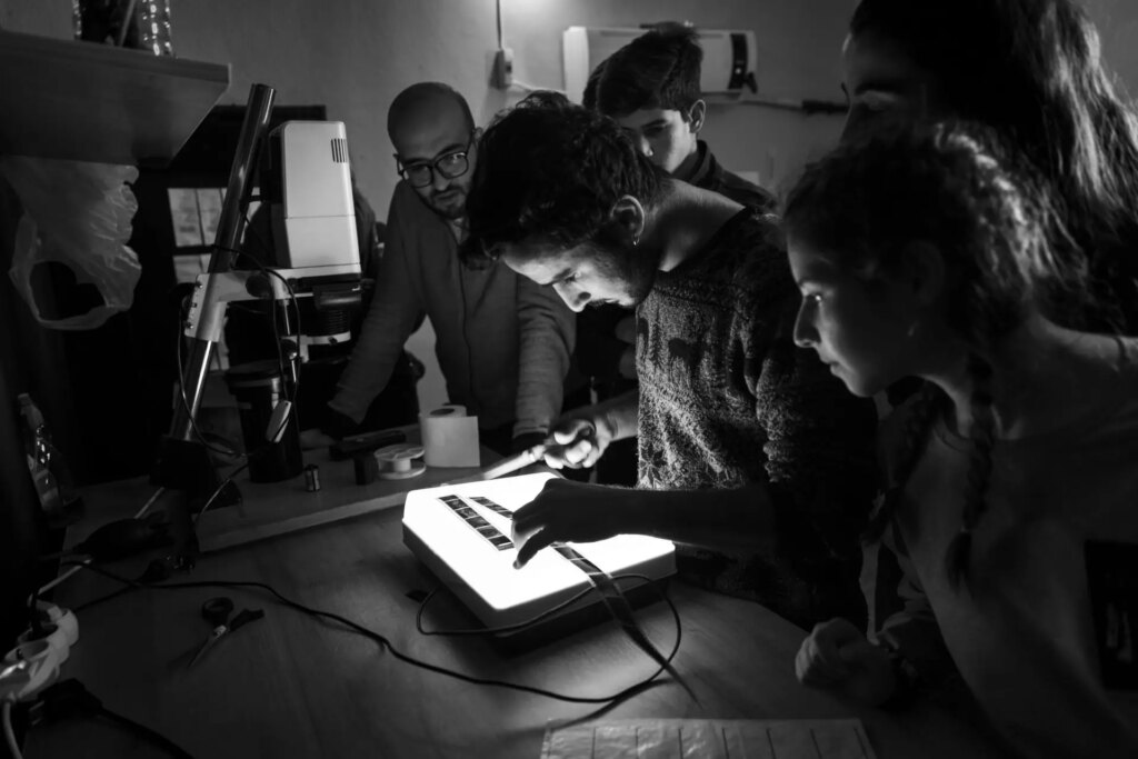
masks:
<svg viewBox="0 0 1138 759"><path fill-rule="evenodd" d="M946 567L953 589L960 581L968 580L968 556L972 553L972 534L988 504L984 494L992 471L992 444L996 421L992 414L991 376L992 368L983 358L973 354L968 360L972 374L972 453L968 457L968 490L964 497L964 514L960 531L948 545Z"/></svg>

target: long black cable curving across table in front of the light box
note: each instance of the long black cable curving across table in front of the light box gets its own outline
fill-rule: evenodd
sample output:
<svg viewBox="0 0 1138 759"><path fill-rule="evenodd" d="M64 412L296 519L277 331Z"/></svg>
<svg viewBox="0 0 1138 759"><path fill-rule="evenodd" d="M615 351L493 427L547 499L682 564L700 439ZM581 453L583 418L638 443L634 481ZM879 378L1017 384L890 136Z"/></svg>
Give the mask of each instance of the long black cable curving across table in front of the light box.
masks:
<svg viewBox="0 0 1138 759"><path fill-rule="evenodd" d="M358 622L352 621L351 619L347 619L346 617L341 617L341 616L339 616L337 613L333 613L333 612L330 612L330 611L322 611L320 609L313 609L311 607L306 607L306 605L304 605L302 603L292 601L291 599L282 595L274 587L272 587L271 585L267 585L265 583L248 581L248 580L246 580L246 581L213 580L213 581L197 581L197 583L164 583L164 584L160 584L160 585L159 584L143 585L141 583L137 583L137 581L127 579L125 577L121 577L121 576L118 576L118 575L116 575L114 572L107 571L106 569L102 569L101 567L96 567L94 564L79 564L76 562L67 562L67 563L80 566L83 569L86 569L88 571L92 571L92 572L94 572L97 575L102 575L104 577L108 577L108 578L110 578L110 579L113 579L113 580L115 580L117 583L123 583L124 585L131 585L131 586L134 586L134 587L145 587L145 588L159 589L159 591L165 591L165 589L182 589L182 588L206 588L206 587L208 587L208 588L221 587L221 588L230 588L230 589L256 588L256 589L259 589L259 591L265 591L265 592L272 594L278 600L278 602L280 602L282 605L286 605L286 607L288 607L290 609L296 609L297 611L300 611L300 612L303 612L305 614L308 614L311 617L316 617L316 618L322 618L322 619L329 619L329 620L332 620L335 622L339 622L340 625L343 625L344 627L348 628L349 630L355 632L355 633L357 633L357 634L360 634L360 635L369 638L370 641L373 641L381 649L386 649L388 652L390 652L390 654L393 657L395 657L399 661L402 661L404 663L407 663L407 665L411 665L413 667L419 667L420 669L426 669L428 671L432 671L432 673L436 673L438 675L445 675L446 677L453 677L454 679L459 679L459 680L462 680L464 683L471 683L473 685L488 685L488 686L492 686L492 687L504 687L504 688L510 688L510 690L513 690L513 691L520 691L522 693L533 693L535 695L542 695L542 696L545 696L545 698L549 698L549 699L555 699L558 701L566 701L566 702L569 702L569 703L609 703L611 701L617 701L617 700L620 700L620 699L625 699L628 695L633 694L634 692L637 692L641 688L643 688L643 686L646 685L648 683L651 683L651 682L655 680L655 678L658 678L665 671L663 667L660 667L659 669L655 670L655 673L651 677L648 677L648 678L645 678L643 680L640 680L638 683L636 683L636 684L634 684L634 685L632 685L629 687L626 687L626 688L621 690L620 692L618 692L618 693L616 693L613 695L609 695L609 696L594 696L594 698L591 698L591 696L564 695L564 694L561 694L561 693L555 693L553 691L547 691L545 688L534 687L531 685L521 685L519 683L508 683L505 680L497 680L497 679L492 679L492 678L486 678L486 677L473 677L471 675L467 675L467 674L463 674L463 673L460 673L460 671L455 671L453 669L446 669L445 667L439 667L437 665L432 665L430 662L415 659L414 657L410 657L410 655L401 652L398 649L396 649L391 644L390 641L388 641L386 637L384 637L379 633L376 633L374 630L371 630L371 629L364 627L363 625L360 625ZM642 577L642 576L629 575L628 577ZM658 587L654 584L653 584L653 586ZM681 635L679 635L679 630L681 630L679 611L676 609L676 605L671 602L671 599L668 597L667 593L665 593L665 592L661 591L660 592L660 597L663 599L663 601L668 604L668 608L671 610L671 614L673 614L673 617L676 620L676 630L677 630L677 634L676 634L676 644L673 646L671 653L669 653L668 658L667 658L667 661L670 662L671 659L676 655L676 652L679 650L679 638L681 638Z"/></svg>

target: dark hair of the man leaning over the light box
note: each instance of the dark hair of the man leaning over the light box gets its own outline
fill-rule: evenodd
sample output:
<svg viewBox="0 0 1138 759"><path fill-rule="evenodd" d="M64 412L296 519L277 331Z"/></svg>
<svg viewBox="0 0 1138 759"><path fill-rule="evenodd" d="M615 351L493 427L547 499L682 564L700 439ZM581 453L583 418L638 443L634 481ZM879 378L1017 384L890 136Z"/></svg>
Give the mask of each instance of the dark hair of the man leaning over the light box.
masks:
<svg viewBox="0 0 1138 759"><path fill-rule="evenodd" d="M651 207L661 187L660 171L616 122L535 92L479 140L463 259L495 258L498 246L528 239L576 247L605 230L621 197Z"/></svg>

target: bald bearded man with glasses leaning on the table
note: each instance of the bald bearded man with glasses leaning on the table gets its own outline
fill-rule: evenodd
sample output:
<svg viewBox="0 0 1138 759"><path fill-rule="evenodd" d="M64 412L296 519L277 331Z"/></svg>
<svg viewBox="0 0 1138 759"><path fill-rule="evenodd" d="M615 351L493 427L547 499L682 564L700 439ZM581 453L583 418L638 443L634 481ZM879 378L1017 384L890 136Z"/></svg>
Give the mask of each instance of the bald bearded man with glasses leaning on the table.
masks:
<svg viewBox="0 0 1138 759"><path fill-rule="evenodd" d="M339 437L358 424L426 316L448 399L478 415L483 444L505 453L539 442L561 412L574 315L553 290L505 265L460 263L480 133L461 94L437 82L409 86L391 102L387 132L403 181L376 295L325 431Z"/></svg>

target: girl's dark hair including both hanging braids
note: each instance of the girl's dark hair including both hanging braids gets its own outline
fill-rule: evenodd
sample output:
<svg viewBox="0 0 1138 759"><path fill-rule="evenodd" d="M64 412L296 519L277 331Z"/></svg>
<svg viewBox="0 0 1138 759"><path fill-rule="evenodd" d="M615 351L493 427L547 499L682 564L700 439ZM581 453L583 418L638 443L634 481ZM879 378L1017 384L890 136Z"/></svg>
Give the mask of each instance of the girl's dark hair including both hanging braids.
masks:
<svg viewBox="0 0 1138 759"><path fill-rule="evenodd" d="M810 165L791 190L783 223L798 240L865 282L897 273L914 244L929 244L947 271L946 320L970 349L972 454L959 534L949 547L954 584L967 577L972 531L986 509L995 420L995 345L1039 310L1056 282L1041 182L997 134L968 124L892 124ZM926 383L907 410L894 485L872 523L880 536L915 469L946 398Z"/></svg>

